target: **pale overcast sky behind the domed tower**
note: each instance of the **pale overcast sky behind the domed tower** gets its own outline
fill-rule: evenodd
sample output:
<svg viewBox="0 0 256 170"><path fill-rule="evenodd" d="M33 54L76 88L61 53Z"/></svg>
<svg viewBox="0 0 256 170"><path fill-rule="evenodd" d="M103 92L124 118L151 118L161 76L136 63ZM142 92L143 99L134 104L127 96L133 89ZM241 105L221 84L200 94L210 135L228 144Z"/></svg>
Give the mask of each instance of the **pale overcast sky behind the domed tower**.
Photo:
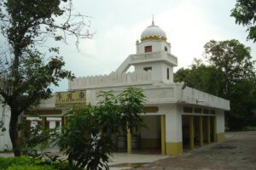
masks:
<svg viewBox="0 0 256 170"><path fill-rule="evenodd" d="M252 48L256 60L256 43L247 42L246 28L237 26L230 17L236 0L73 0L76 11L90 16L93 39L80 42L80 51L73 41L61 45L67 70L76 77L109 74L129 54L135 54L135 43L143 30L154 24L166 31L172 54L178 66L189 67L194 58L201 58L203 46L214 39L238 39ZM62 81L55 91L67 90Z"/></svg>

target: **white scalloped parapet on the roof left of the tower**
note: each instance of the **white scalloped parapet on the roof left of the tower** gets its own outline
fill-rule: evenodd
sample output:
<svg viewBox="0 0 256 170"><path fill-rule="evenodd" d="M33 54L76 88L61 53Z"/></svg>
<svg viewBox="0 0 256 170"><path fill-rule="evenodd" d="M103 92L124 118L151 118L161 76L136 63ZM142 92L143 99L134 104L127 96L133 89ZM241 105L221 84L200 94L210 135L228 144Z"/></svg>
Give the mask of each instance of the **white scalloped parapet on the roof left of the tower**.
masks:
<svg viewBox="0 0 256 170"><path fill-rule="evenodd" d="M128 73L112 72L111 74L104 76L75 78L73 81L69 81L69 90L139 85L148 83L152 83L151 71L134 71Z"/></svg>

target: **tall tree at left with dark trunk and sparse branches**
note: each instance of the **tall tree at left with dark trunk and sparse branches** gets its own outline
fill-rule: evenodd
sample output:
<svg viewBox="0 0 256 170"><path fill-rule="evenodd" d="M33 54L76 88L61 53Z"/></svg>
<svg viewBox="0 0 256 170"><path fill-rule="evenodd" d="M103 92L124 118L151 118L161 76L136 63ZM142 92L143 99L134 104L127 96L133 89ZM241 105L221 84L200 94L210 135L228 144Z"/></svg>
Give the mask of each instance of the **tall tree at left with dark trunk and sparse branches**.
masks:
<svg viewBox="0 0 256 170"><path fill-rule="evenodd" d="M73 14L71 0L4 0L0 17L1 39L8 44L0 56L0 95L11 111L9 134L15 156L20 156L18 116L48 99L50 84L57 86L61 79L73 77L63 69L59 48L50 47L46 53L40 47L49 38L66 42L71 35L78 44L91 34L84 30L84 17Z"/></svg>

